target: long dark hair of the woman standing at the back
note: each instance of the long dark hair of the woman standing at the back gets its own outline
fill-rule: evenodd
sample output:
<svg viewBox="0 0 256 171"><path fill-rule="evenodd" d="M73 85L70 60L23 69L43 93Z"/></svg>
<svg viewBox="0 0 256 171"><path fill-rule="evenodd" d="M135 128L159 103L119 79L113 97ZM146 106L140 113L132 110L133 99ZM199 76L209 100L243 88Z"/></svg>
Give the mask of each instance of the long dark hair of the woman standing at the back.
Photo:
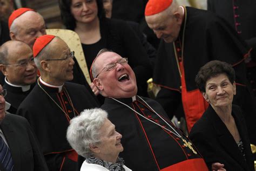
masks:
<svg viewBox="0 0 256 171"><path fill-rule="evenodd" d="M71 4L72 0L58 0L60 17L62 18L63 24L66 26L66 29L75 30L76 28L76 19L71 13ZM96 0L98 6L98 17L99 19L105 18L105 10L103 9L102 0Z"/></svg>

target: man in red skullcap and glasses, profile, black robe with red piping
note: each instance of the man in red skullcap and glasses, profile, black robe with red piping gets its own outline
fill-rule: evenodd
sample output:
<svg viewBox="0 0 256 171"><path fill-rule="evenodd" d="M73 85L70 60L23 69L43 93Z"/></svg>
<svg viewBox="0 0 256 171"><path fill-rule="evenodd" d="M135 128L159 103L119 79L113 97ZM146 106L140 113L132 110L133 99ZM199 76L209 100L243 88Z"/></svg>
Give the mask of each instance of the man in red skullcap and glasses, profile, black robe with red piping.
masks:
<svg viewBox="0 0 256 171"><path fill-rule="evenodd" d="M17 114L35 131L49 170L76 170L77 153L66 140L66 129L84 109L98 106L96 97L84 85L67 82L73 79L74 52L59 37L38 37L33 57L41 77Z"/></svg>

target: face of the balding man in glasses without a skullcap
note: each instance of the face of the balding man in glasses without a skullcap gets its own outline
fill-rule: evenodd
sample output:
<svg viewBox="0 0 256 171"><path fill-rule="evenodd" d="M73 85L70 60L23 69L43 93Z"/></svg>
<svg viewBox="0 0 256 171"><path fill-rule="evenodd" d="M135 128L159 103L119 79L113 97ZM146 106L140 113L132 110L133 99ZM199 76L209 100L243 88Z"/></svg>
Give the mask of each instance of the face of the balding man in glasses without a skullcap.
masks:
<svg viewBox="0 0 256 171"><path fill-rule="evenodd" d="M10 45L15 44L11 43ZM14 47L9 48L8 65L2 66L6 79L9 83L15 85L30 85L35 83L37 68L33 60L32 50L25 43Z"/></svg>

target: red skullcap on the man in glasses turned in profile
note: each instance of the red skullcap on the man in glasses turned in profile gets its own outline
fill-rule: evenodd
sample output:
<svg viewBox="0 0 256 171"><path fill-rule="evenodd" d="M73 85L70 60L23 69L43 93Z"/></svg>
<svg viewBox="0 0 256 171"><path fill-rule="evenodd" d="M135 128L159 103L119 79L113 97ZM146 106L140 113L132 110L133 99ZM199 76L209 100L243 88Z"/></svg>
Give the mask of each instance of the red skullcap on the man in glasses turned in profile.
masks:
<svg viewBox="0 0 256 171"><path fill-rule="evenodd" d="M44 49L46 45L48 45L51 40L55 38L53 35L44 35L36 38L36 42L33 45L33 57L35 58L39 52Z"/></svg>

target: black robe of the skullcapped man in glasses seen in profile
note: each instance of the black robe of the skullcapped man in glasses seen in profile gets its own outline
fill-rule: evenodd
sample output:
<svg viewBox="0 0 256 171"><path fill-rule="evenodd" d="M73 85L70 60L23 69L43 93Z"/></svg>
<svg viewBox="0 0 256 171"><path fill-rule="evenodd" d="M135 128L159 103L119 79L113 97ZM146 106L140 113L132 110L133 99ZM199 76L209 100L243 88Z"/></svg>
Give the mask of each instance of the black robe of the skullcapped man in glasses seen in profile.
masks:
<svg viewBox="0 0 256 171"><path fill-rule="evenodd" d="M86 108L98 107L95 98L83 85L65 82L64 86L78 113ZM54 95L55 93L50 94ZM38 84L19 106L17 114L28 119L44 154L71 149L66 140L66 128L68 128L69 122L66 120L65 114L41 90Z"/></svg>

